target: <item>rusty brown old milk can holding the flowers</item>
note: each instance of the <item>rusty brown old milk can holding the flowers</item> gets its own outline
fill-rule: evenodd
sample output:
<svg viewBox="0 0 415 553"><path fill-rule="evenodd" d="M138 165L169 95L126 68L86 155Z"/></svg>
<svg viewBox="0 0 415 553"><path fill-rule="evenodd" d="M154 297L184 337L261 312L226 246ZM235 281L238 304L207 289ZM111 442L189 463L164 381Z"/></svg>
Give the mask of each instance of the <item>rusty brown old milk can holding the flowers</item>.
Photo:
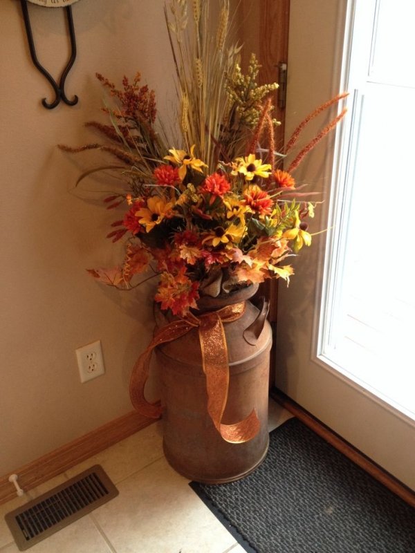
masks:
<svg viewBox="0 0 415 553"><path fill-rule="evenodd" d="M190 480L231 482L252 472L268 450L268 373L272 342L266 310L249 300L257 286L224 297L203 297L196 317L224 306L244 303L243 315L224 322L228 349L229 385L222 422L234 424L255 409L259 431L242 443L225 441L208 413L198 328L156 348L163 407L163 448L169 464ZM156 310L156 328L169 324ZM215 346L219 347L219 346Z"/></svg>

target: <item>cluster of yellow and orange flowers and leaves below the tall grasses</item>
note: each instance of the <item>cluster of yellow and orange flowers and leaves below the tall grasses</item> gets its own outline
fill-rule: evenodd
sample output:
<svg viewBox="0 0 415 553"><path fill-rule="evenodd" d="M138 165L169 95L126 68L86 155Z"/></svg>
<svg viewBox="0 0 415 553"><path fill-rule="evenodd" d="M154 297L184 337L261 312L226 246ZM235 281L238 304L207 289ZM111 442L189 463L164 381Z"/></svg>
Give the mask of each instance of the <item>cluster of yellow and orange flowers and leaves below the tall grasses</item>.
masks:
<svg viewBox="0 0 415 553"><path fill-rule="evenodd" d="M293 189L290 174L272 171L254 153L220 162L212 173L194 147L170 149L165 161L151 186L126 196L129 209L113 223L109 237L130 234L124 262L110 272L90 270L93 277L128 288L151 268L160 274L155 300L182 316L203 293L217 296L270 277L288 281L293 269L281 262L310 245L304 219L313 213L311 203L279 200Z"/></svg>

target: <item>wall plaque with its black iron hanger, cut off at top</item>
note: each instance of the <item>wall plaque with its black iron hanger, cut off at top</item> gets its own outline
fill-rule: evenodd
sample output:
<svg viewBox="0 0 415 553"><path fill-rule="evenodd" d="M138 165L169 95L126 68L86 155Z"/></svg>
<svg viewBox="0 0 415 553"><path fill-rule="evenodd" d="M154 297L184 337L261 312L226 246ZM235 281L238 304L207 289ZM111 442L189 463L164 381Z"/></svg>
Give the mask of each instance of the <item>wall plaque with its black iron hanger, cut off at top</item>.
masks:
<svg viewBox="0 0 415 553"><path fill-rule="evenodd" d="M48 79L48 82L50 82L50 85L52 86L53 91L55 92L55 100L53 100L53 102L47 102L46 98L43 98L42 104L44 105L44 107L46 107L46 109L55 108L61 100L68 106L75 106L75 104L77 104L77 101L78 101L78 97L76 95L73 97L73 100L69 100L65 93L65 80L66 80L66 77L68 76L69 71L71 71L71 67L74 64L75 57L76 57L75 29L73 27L71 4L77 1L79 0L20 0L21 10L23 12L23 17L24 17L24 25L26 28L26 35L28 35L30 57L32 57L32 61L33 61L33 64L35 64L35 67L40 71L40 73L42 73L42 75L44 75L44 77L46 77L46 79ZM28 2L36 4L37 6L43 6L44 8L64 8L64 10L66 11L66 20L68 21L68 31L69 31L69 36L71 38L71 57L68 61L68 64L66 64L64 71L62 71L62 75L59 79L59 83L55 81L52 75L50 75L50 73L46 71L44 66L42 66L42 64L39 62L39 59L37 59L35 42L33 41L33 32L30 26Z"/></svg>

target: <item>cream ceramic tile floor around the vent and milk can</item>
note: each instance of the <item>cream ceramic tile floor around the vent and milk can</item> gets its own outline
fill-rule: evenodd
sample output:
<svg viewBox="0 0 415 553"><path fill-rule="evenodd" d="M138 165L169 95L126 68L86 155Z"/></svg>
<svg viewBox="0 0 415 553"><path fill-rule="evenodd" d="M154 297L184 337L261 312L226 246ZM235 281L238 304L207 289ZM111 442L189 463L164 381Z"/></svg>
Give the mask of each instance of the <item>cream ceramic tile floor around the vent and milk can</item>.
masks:
<svg viewBox="0 0 415 553"><path fill-rule="evenodd" d="M291 417L270 400L269 429ZM120 494L44 541L30 553L243 553L233 536L176 474L163 456L160 422L86 462L0 505L0 553L18 553L4 514L102 465Z"/></svg>

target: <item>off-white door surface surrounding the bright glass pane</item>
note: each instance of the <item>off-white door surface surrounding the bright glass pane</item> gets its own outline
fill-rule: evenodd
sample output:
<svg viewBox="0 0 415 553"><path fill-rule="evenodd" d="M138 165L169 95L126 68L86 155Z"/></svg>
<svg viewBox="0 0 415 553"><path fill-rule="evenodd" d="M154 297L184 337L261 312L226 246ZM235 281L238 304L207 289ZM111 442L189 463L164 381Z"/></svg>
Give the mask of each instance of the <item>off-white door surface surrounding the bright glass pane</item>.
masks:
<svg viewBox="0 0 415 553"><path fill-rule="evenodd" d="M286 135L315 106L339 92L347 0L291 0ZM333 117L311 124L312 138ZM297 182L322 191L311 232L327 225L334 135L295 173ZM415 489L415 427L317 358L325 238L299 252L287 289L279 285L276 386L398 480Z"/></svg>

